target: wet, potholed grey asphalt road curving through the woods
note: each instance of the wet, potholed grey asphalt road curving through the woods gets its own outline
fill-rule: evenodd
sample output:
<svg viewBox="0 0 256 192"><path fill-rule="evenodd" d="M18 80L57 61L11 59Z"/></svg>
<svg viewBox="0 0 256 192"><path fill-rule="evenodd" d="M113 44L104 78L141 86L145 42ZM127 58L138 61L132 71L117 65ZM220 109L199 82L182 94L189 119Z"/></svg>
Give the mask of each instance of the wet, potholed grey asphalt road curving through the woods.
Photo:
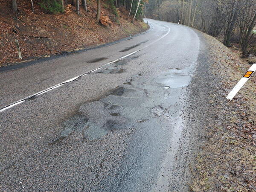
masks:
<svg viewBox="0 0 256 192"><path fill-rule="evenodd" d="M108 46L0 72L0 191L188 190L187 113L207 48L186 26L147 21Z"/></svg>

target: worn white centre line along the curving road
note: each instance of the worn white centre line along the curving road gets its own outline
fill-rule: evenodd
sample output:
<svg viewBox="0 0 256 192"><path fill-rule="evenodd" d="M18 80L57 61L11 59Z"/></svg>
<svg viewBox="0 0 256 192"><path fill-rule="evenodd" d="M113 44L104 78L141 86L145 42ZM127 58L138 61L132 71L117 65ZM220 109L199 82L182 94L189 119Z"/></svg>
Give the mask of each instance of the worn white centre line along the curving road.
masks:
<svg viewBox="0 0 256 192"><path fill-rule="evenodd" d="M164 38L166 35L168 35L169 32L170 32L170 27L169 27L169 26L167 26L167 27L168 27L169 30L168 30L168 32L167 32L165 35L163 35L162 37L160 37L160 38L157 39L156 41L151 42L150 44L148 44L147 46L145 46L145 47L143 47L143 48L146 48L146 47L148 47L149 45L154 44L155 42L159 41L160 39L162 39L162 38ZM141 48L141 49L143 49L143 48ZM120 57L120 58L118 58L118 59L116 59L116 60L114 60L114 61L111 61L111 62L109 62L109 63L107 63L107 64L104 64L104 65L102 65L102 67L105 66L105 65L114 63L114 62L116 62L116 61L119 61L119 60L121 60L121 59L123 59L123 58L126 58L126 57L130 56L130 55L133 55L134 53L140 51L141 49L138 49L137 51L131 52L131 53L129 53L129 54L125 55L125 56L122 56L122 57ZM102 67L98 67L98 68L96 68L96 69L94 69L94 70L90 70L89 72L86 72L86 73L81 74L81 75L79 75L79 76L73 77L72 79L69 79L69 80L64 81L64 82L62 82L62 83L56 84L56 85L54 85L54 86L52 86L52 87L49 87L49 88L47 88L47 89L45 89L45 90L42 90L42 91L38 92L38 93L35 93L35 94L33 94L33 95L30 95L30 96L28 96L28 97L26 97L26 98L24 98L24 99L20 99L20 100L17 101L17 102L14 102L14 103L12 103L12 104L10 104L10 105L7 105L7 106L1 108L1 109L0 109L0 112L3 112L3 111L5 111L5 110L7 110L7 109L9 109L9 108L12 108L12 107L14 107L15 105L19 105L20 103L25 102L27 99L30 99L30 98L32 98L33 96L42 95L42 94L47 93L48 91L53 90L53 89L55 89L55 88L57 88L57 87L61 87L62 85L66 84L66 83L69 83L69 82L71 82L71 81L75 81L75 80L78 79L79 77L85 76L85 75L87 75L88 73L92 73L92 72L94 72L94 71L96 71L96 70L99 70L99 69L101 69Z"/></svg>

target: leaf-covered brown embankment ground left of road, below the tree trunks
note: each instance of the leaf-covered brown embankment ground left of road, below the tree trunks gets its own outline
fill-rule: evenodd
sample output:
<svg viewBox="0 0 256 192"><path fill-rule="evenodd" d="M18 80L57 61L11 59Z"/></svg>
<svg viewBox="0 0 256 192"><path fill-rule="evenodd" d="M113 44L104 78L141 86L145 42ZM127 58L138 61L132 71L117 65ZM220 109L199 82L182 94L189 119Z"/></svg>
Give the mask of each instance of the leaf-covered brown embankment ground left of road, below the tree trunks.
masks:
<svg viewBox="0 0 256 192"><path fill-rule="evenodd" d="M116 17L104 1L102 16L109 18L109 26L96 24L95 0L87 2L88 12L80 5L80 15L70 4L64 5L64 14L48 14L37 1L34 1L34 13L28 1L19 0L17 3L18 11L13 12L10 1L0 0L0 67L104 44L148 27L136 20L131 23L132 18L127 19L128 12L123 7L119 8L119 17ZM18 58L15 39L19 41L23 60Z"/></svg>

